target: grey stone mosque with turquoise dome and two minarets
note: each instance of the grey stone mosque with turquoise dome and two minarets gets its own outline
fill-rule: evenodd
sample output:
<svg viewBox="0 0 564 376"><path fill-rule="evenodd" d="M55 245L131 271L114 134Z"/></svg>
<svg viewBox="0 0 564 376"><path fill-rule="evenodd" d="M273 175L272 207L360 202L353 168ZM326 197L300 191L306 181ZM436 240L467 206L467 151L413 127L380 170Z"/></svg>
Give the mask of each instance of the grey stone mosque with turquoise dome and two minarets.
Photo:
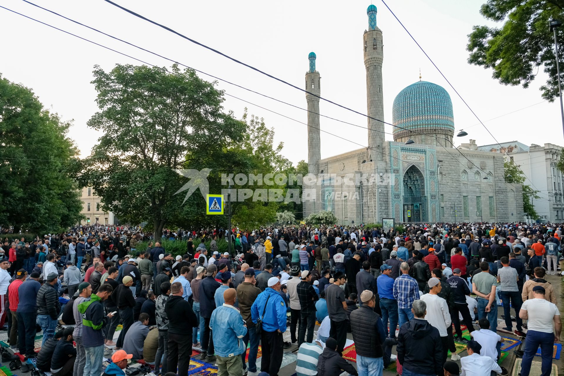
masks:
<svg viewBox="0 0 564 376"><path fill-rule="evenodd" d="M308 167L319 178L303 215L329 210L341 224L523 220L522 185L505 183L503 154L455 149L452 101L443 87L417 81L400 91L392 108L394 140L385 140L384 43L376 6L367 14L367 147L321 159L320 73L315 53L309 55ZM343 183L351 174L354 183Z"/></svg>

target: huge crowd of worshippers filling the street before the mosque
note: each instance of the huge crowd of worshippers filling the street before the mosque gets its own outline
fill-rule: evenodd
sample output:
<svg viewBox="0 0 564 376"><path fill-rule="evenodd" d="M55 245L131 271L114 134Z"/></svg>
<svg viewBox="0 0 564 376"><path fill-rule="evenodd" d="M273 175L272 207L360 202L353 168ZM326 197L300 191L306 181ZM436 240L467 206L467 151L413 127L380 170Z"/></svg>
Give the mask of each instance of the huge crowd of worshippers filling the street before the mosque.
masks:
<svg viewBox="0 0 564 376"><path fill-rule="evenodd" d="M521 376L539 347L548 375L561 321L544 278L561 275L561 236L559 226L525 223L165 231L186 241L181 255L139 228L6 238L0 328L25 361L2 357L55 376L121 376L129 359L184 376L194 348L219 375L276 376L296 346L298 376L381 375L393 361L403 376L487 376L506 374L502 331L525 341ZM218 251L220 237L231 237L232 253ZM347 333L356 369L342 357Z"/></svg>

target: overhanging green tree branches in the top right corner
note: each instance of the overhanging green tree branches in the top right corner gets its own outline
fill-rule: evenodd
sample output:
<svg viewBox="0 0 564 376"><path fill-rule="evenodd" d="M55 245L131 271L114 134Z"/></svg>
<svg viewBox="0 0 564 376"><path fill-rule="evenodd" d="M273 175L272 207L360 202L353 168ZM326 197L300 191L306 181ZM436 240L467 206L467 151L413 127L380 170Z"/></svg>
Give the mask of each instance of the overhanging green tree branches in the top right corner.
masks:
<svg viewBox="0 0 564 376"><path fill-rule="evenodd" d="M493 78L504 85L527 88L539 68L548 74L540 87L544 99L558 96L558 75L554 56L554 35L549 20L564 20L564 0L488 0L480 13L486 19L502 23L501 28L474 26L468 35L468 62L493 69ZM561 38L563 31L557 29ZM562 43L558 59L562 65ZM564 77L561 77L564 78Z"/></svg>

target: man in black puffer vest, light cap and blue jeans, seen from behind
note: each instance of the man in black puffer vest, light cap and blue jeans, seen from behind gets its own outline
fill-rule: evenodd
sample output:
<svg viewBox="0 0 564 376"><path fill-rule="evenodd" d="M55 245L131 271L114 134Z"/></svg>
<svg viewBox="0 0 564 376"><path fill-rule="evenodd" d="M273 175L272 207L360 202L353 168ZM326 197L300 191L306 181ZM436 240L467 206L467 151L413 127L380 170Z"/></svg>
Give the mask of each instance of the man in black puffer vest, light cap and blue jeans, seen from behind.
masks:
<svg viewBox="0 0 564 376"><path fill-rule="evenodd" d="M384 370L384 340L386 333L380 315L374 312L376 294L364 290L363 303L350 314L352 339L356 347L356 365L360 375L381 375ZM389 360L389 355L387 355Z"/></svg>

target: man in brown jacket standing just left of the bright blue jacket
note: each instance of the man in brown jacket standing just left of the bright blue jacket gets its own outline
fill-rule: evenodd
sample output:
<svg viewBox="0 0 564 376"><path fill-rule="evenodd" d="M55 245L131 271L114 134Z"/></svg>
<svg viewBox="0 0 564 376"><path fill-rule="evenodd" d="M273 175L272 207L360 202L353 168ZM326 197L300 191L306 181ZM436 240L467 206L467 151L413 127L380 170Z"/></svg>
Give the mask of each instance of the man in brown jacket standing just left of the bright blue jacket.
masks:
<svg viewBox="0 0 564 376"><path fill-rule="evenodd" d="M296 278L297 279L297 278ZM258 343L261 340L260 335L257 334L257 327L251 317L251 307L255 300L257 300L258 294L261 293L261 289L254 285L256 278L254 276L254 269L245 269L245 280L237 286L237 300L239 300L239 309L243 320L246 322L247 333L243 337L243 342L245 343L245 348L250 342L249 346L249 375L256 375L257 373L257 353L258 353ZM296 335L294 331L294 335ZM246 352L241 354L241 360L243 361L243 370L245 369L245 356Z"/></svg>

